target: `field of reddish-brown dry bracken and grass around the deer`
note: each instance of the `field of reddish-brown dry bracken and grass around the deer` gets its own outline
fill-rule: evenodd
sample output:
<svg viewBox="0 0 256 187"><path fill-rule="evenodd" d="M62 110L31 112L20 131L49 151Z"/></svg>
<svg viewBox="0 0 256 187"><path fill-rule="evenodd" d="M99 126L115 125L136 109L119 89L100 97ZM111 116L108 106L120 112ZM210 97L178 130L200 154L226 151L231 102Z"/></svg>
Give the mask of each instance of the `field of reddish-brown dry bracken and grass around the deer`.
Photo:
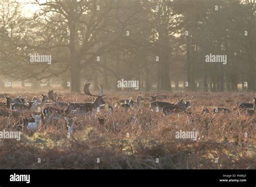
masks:
<svg viewBox="0 0 256 187"><path fill-rule="evenodd" d="M19 94L41 97L47 91L0 92L16 97ZM57 90L64 102L92 101L92 97ZM140 92L106 92L106 103L114 106L122 98L134 100ZM90 116L77 116L76 132L68 138L66 121L48 129L42 126L36 132L23 129L21 140L0 139L1 169L256 169L255 113L238 114L237 102L253 102L250 92L143 92L144 98L157 95L157 100L177 102L178 98L191 100L188 113L153 112L149 100L138 110L114 107L113 116L107 111ZM202 106L210 114L201 114ZM227 107L230 113L214 114L213 107ZM29 117L31 112L23 114ZM104 117L100 125L97 117ZM15 131L19 119L0 117L0 131ZM115 124L118 126L115 127ZM197 140L177 139L176 132L196 131ZM247 135L247 136L246 136ZM246 138L247 137L247 138Z"/></svg>

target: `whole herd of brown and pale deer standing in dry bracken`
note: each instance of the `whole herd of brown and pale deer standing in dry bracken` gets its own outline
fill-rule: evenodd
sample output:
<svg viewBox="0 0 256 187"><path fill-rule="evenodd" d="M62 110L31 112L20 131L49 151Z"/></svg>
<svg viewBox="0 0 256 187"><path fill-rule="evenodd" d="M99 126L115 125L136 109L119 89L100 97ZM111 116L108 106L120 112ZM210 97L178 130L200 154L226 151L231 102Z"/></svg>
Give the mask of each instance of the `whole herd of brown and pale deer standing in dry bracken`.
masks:
<svg viewBox="0 0 256 187"><path fill-rule="evenodd" d="M38 127L43 124L46 129L49 125L56 124L59 119L65 119L69 129L69 133L73 134L76 126L77 116L80 115L90 115L90 119L94 120L95 113L102 110L110 112L113 115L113 107L110 104L105 103L102 85L100 85L100 90L98 95L92 95L89 91L90 83L86 82L84 85L85 95L96 97L93 102L77 103L77 102L62 102L63 96L57 95L56 92L50 90L48 96L42 94L42 99L38 99L37 96L33 97L32 100L26 100L27 97L22 97L21 95L15 99L10 96L4 96L5 102L0 102L0 116L2 117L14 117L20 119L20 126L22 129L24 127L29 130L36 131ZM156 96L151 98L143 98L142 95L137 97L137 100L122 99L114 105L114 108L127 110L138 110L144 100L149 100L149 108L152 111L163 112L164 116L171 113L188 112L188 108L191 107L190 101L184 99L178 99L177 103L168 103L157 100ZM256 108L256 97L254 97L254 104L252 103L242 103L238 105L237 109L239 114L242 111L246 111L247 116L252 116ZM31 114L29 118L23 118L22 114L28 111ZM230 109L224 107L214 107L213 113L219 112L231 112ZM203 106L201 114L208 114L210 111L207 107ZM100 125L104 124L104 118L98 117L98 122Z"/></svg>

